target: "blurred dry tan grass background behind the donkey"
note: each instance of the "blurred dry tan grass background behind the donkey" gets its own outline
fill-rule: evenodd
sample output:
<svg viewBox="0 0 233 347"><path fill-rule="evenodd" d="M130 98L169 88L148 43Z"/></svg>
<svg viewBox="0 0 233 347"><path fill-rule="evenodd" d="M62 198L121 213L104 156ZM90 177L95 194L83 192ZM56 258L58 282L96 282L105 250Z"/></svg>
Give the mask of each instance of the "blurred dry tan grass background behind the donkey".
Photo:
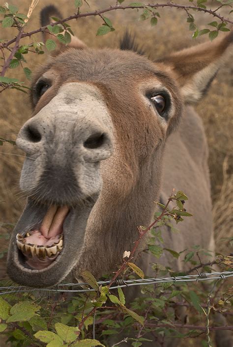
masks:
<svg viewBox="0 0 233 347"><path fill-rule="evenodd" d="M124 5L132 1L124 1ZM144 1L146 3L146 1ZM179 3L181 1L178 1ZM183 1L184 2L184 1ZM11 3L11 2L10 2ZM12 3L17 5L20 13L28 13L30 0L14 0ZM39 13L41 8L53 3L53 0L40 0L36 6L28 26L27 31L40 27ZM84 3L82 12L115 5L116 0L88 0L90 7ZM63 17L75 13L74 1L56 0L54 4L58 6ZM190 2L186 1L186 4ZM206 3L205 3L206 4ZM217 8L219 2L207 2L211 8ZM222 15L228 17L229 7L220 10ZM188 30L189 24L186 23L186 13L175 8L159 9L161 18L155 27L151 27L148 21L139 21L141 11L117 10L106 14L115 27L116 31L106 36L96 36L97 28L102 25L99 17L81 18L71 21L75 34L90 47L112 47L119 45L119 40L123 32L128 28L135 33L136 40L142 47L146 55L151 59L160 58L185 47L196 45L208 40L208 37L201 36L192 39L192 31ZM207 23L215 19L204 13L192 12L200 29L206 28ZM230 16L233 16L231 14ZM1 29L0 38L11 39L16 30L13 28ZM226 33L221 33L224 35ZM25 42L42 41L41 35L24 39ZM23 43L23 40L22 40ZM28 66L32 71L43 64L47 57L46 54L37 55L29 53L25 56ZM8 77L15 77L21 81L26 80L23 69L8 70ZM0 136L6 139L16 139L21 126L30 117L30 104L27 94L18 90L6 90L0 93ZM229 61L221 69L208 94L195 106L203 119L204 127L209 144L209 168L213 198L214 228L217 241L216 250L229 254L228 245L219 242L223 237L232 236L233 227L233 65ZM17 221L22 212L25 198L19 189L19 177L24 153L15 146L5 144L0 146L0 223L10 223L8 226L0 224L3 233L5 228L10 228ZM1 232L1 231L0 231ZM203 231L204 232L204 231ZM0 248L5 247L5 241L1 242ZM0 249L1 250L1 249Z"/></svg>

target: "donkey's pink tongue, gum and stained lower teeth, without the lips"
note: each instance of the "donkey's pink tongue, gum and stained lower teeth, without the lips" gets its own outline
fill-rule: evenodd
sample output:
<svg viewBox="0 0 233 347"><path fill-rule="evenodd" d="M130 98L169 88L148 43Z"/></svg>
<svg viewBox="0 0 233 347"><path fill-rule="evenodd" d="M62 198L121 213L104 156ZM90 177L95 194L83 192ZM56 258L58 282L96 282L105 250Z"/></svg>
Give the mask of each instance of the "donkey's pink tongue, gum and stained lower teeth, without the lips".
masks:
<svg viewBox="0 0 233 347"><path fill-rule="evenodd" d="M27 231L25 236L16 235L17 247L31 269L44 269L58 257L63 247L63 223L68 213L67 206L52 205L38 228Z"/></svg>

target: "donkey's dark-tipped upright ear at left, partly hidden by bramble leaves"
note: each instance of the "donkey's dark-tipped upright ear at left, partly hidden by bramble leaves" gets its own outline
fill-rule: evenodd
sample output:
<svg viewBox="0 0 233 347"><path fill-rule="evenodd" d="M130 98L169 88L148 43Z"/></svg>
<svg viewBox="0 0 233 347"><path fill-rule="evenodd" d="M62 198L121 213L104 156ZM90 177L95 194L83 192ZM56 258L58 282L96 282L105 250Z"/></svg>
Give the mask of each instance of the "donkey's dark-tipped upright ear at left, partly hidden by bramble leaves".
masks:
<svg viewBox="0 0 233 347"><path fill-rule="evenodd" d="M51 23L54 22L54 20L52 19L52 17L56 17L56 18L62 18L60 12L58 11L57 7L55 7L54 5L49 5L44 7L41 12L40 12L40 24L42 27L45 27ZM71 42L68 45L64 45L62 44L58 38L56 36L54 36L53 34L51 34L49 32L49 30L44 30L43 32L43 41L44 43L48 40L48 39L53 39L56 44L56 50L51 51L51 55L52 56L56 56L59 53L64 52L67 48L73 47L76 49L83 49L86 47L85 43L83 41L81 41L80 39L78 39L78 37L73 36L71 34Z"/></svg>

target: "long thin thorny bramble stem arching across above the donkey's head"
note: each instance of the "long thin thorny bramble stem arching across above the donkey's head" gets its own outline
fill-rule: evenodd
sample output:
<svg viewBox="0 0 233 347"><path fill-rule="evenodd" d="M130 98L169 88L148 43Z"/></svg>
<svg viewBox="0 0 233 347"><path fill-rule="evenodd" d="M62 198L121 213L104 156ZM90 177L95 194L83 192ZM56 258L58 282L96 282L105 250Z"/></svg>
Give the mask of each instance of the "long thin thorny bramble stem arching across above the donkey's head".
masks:
<svg viewBox="0 0 233 347"><path fill-rule="evenodd" d="M120 5L116 5L116 6L111 6L111 7L105 8L103 10L96 10L96 11L86 12L86 13L79 13L78 12L73 16L69 16L67 18L61 19L60 21L55 22L55 23L51 23L51 26L53 27L57 24L62 24L62 23L68 22L72 19L78 19L81 17L90 17L90 16L101 15L102 13L106 13L106 12L110 12L110 11L114 11L114 10L118 10L118 9L121 9L121 10L141 9L141 8L146 8L148 6L151 8L155 8L155 9L160 8L160 7L162 7L162 8L163 7L175 7L175 8L181 8L183 10L197 10L200 12L208 13L208 14L212 15L213 17L220 19L222 22L227 22L229 24L233 24L233 21L231 21L229 18L225 18L225 17L221 16L220 14L216 13L215 12L216 10L215 11L214 10L208 10L207 8L202 8L202 7L198 7L198 6L194 6L194 5L180 5L177 3L165 2L165 3L157 3L157 4L147 4L147 5L145 4L144 6L120 6ZM22 33L21 38L28 37L28 36L30 37L30 36L38 33L38 32L43 32L46 28L47 28L47 26L40 27L39 29ZM2 47L2 48L8 47L12 43L16 42L17 38L18 38L18 36L16 38L6 42L6 43L2 43L0 45L0 47Z"/></svg>

